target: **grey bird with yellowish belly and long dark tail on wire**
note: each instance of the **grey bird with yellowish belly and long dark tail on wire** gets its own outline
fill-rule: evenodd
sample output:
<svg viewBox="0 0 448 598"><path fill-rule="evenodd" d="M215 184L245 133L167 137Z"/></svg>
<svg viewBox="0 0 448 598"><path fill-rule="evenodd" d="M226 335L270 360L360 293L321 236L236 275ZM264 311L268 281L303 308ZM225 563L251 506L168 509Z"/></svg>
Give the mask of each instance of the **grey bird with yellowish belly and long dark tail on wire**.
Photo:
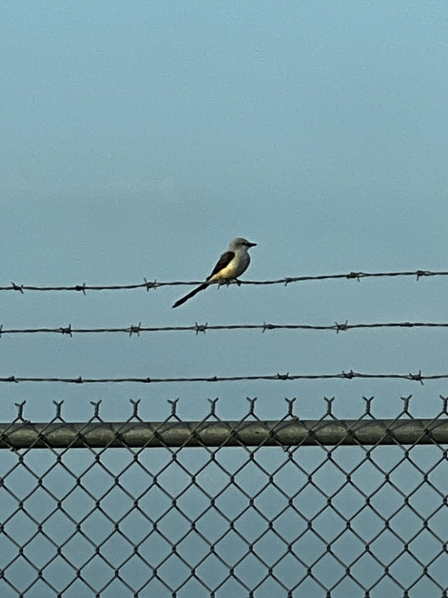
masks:
<svg viewBox="0 0 448 598"><path fill-rule="evenodd" d="M208 285L211 285L214 282L226 282L226 280L234 280L237 279L238 276L241 276L250 264L250 255L247 250L255 245L256 243L249 243L242 237L234 239L229 245L229 251L222 254L214 267L213 272L207 277L207 282L197 286L197 288L189 292L188 295L185 295L185 297L176 301L173 307L179 307L182 303L185 303L185 301L194 297L195 294L199 291L203 291Z"/></svg>

